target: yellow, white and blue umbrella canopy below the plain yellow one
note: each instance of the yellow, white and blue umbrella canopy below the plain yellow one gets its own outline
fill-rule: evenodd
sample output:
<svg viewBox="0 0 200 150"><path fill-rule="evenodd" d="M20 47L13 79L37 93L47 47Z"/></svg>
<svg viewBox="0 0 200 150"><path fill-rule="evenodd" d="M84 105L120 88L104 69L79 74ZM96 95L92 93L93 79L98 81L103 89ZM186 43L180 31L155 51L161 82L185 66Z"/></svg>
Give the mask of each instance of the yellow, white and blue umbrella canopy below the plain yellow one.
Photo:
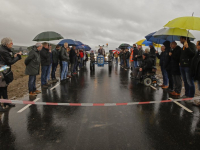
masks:
<svg viewBox="0 0 200 150"><path fill-rule="evenodd" d="M163 28L157 31L153 36L170 42L180 41L181 36L185 37L187 36L191 41L195 39L195 37L186 29L179 29L179 28Z"/></svg>

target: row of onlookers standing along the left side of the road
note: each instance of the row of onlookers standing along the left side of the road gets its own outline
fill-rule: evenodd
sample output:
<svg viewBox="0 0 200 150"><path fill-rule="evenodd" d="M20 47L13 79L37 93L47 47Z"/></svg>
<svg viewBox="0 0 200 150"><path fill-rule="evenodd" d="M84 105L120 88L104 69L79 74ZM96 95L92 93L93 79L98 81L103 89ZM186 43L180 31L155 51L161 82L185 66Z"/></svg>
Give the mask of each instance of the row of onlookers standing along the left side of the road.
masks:
<svg viewBox="0 0 200 150"><path fill-rule="evenodd" d="M8 99L7 87L13 81L11 66L21 59L22 52L13 53L12 39L3 38L0 46L0 67L5 65L10 69L0 72L0 98ZM77 72L86 66L88 53L83 49L71 48L68 43L63 46L52 46L47 43L36 43L25 59L25 74L29 75L28 88L30 96L37 96L41 91L36 88L36 76L41 70L41 87L47 89L52 83L59 80L56 78L56 70L60 65L60 82L65 83L69 78L77 75ZM40 68L41 67L41 68ZM14 104L4 103L0 105L0 112L6 111L6 107L14 107Z"/></svg>

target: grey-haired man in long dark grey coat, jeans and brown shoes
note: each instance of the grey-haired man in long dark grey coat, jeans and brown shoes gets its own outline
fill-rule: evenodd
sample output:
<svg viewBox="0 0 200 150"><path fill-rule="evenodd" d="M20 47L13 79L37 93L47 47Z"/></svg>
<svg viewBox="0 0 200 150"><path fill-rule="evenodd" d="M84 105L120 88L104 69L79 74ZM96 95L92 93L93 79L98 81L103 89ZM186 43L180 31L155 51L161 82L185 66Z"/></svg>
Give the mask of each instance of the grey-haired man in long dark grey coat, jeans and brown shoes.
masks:
<svg viewBox="0 0 200 150"><path fill-rule="evenodd" d="M36 43L24 61L26 65L25 74L29 75L28 89L30 96L36 96L37 94L41 93L40 91L36 90L36 75L40 74L41 49L42 44Z"/></svg>

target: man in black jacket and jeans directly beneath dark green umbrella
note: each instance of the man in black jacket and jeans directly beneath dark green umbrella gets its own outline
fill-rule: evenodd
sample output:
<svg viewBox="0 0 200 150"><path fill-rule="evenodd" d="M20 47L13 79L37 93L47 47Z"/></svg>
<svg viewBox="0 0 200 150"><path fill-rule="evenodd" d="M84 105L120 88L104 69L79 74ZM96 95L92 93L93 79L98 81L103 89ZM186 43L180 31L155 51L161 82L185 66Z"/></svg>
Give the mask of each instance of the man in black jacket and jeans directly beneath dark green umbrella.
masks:
<svg viewBox="0 0 200 150"><path fill-rule="evenodd" d="M41 66L42 66L42 74L41 74L41 84L42 88L48 88L49 84L47 84L47 76L49 71L49 66L51 64L51 58L49 50L49 44L44 42L42 43L43 48L40 51L40 59L41 59Z"/></svg>

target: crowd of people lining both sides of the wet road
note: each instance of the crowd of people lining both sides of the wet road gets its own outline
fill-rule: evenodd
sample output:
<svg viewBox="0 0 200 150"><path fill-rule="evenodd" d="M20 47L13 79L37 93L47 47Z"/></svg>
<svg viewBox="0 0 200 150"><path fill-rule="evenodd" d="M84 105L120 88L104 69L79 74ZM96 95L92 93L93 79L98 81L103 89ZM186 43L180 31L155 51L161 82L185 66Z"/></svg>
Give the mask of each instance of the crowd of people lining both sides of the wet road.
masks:
<svg viewBox="0 0 200 150"><path fill-rule="evenodd" d="M160 60L160 67L163 76L163 89L167 89L173 96L181 95L182 81L185 86L185 94L181 98L193 98L195 96L194 81L198 81L200 90L200 41L192 43L188 38L181 37L183 47L176 42L165 41L161 47L161 53L155 50L153 45L145 50L142 45L133 44L130 48L122 49L114 54L114 60L124 69L132 69L132 79L140 77L156 66L156 57ZM10 69L0 72L0 98L8 99L7 87L13 81L11 66L21 59L22 52L13 53L12 39L3 38L0 46L0 67L5 65ZM105 55L105 50L100 47L98 53ZM37 96L41 91L36 88L36 76L41 70L41 87L47 89L52 83L59 80L56 78L56 70L60 65L60 81L65 83L86 65L88 54L84 50L77 50L76 46L71 48L68 43L63 46L52 46L47 43L36 43L25 59L25 74L29 75L29 95ZM40 68L41 67L41 68ZM193 104L200 106L200 101L195 100ZM14 104L4 103L0 105L0 111L5 107L14 107Z"/></svg>

